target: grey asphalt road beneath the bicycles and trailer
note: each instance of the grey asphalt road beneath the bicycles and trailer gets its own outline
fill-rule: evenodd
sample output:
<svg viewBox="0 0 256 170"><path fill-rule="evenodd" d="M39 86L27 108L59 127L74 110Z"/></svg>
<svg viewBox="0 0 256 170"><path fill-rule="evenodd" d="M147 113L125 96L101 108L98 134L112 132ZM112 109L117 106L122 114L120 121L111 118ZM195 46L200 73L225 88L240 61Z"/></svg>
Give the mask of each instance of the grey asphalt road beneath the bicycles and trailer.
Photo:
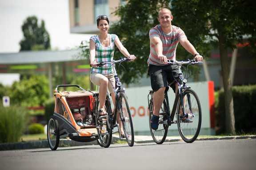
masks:
<svg viewBox="0 0 256 170"><path fill-rule="evenodd" d="M0 151L0 170L255 170L256 139Z"/></svg>

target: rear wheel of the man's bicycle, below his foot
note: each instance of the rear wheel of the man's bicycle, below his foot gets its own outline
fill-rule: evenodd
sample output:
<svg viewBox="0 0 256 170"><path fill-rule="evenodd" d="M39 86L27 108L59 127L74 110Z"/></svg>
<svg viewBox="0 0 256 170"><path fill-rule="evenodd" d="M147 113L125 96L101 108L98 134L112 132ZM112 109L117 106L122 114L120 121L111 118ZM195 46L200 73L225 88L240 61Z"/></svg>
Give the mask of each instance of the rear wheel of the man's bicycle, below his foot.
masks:
<svg viewBox="0 0 256 170"><path fill-rule="evenodd" d="M148 106L149 109L149 129L150 129L150 133L152 135L153 140L155 141L155 143L157 144L162 144L164 143L167 133L168 133L168 124L159 124L158 128L156 130L153 130L150 126L150 120L152 118L153 115L153 111L154 111L154 104L153 104L153 100L151 99L150 104ZM159 114L159 118L162 118L163 121L168 120L168 114L167 114L167 104L164 100L161 108L160 108L160 114Z"/></svg>

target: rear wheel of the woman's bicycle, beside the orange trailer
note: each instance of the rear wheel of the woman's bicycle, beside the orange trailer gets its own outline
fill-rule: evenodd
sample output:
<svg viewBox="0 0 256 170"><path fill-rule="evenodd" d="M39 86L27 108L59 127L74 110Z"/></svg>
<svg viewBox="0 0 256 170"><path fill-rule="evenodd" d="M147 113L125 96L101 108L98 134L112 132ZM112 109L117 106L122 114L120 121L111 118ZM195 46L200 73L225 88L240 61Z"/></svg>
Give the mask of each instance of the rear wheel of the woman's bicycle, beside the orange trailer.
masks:
<svg viewBox="0 0 256 170"><path fill-rule="evenodd" d="M105 110L107 112L107 115L109 113L109 109L105 106ZM107 116L100 116L97 112L97 132L99 136L99 145L101 147L109 147L112 141L112 126L111 124L108 124ZM110 127L110 128L109 128Z"/></svg>

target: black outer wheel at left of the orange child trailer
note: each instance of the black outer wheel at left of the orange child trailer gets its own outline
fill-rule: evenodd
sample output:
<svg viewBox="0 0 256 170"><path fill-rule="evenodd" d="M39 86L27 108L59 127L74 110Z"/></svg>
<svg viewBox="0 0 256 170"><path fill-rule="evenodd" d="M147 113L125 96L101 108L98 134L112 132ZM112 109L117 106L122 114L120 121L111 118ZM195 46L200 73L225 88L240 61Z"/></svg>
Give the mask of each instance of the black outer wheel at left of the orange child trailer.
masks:
<svg viewBox="0 0 256 170"><path fill-rule="evenodd" d="M54 116L50 117L47 125L47 141L52 151L55 151L60 143L59 123Z"/></svg>

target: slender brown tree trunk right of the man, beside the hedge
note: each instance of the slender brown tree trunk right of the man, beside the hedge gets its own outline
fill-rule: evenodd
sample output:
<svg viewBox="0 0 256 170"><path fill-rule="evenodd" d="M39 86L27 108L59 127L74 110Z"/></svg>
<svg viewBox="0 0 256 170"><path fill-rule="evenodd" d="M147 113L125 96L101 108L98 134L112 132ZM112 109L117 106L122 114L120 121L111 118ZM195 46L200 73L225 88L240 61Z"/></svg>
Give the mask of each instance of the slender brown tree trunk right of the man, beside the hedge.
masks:
<svg viewBox="0 0 256 170"><path fill-rule="evenodd" d="M222 70L222 78L224 85L224 97L225 97L225 119L226 119L226 133L235 135L235 116L234 116L234 104L232 95L232 85L229 76L229 63L228 63L228 50L224 47L224 38L220 35L219 37L219 48L220 48L220 62Z"/></svg>

